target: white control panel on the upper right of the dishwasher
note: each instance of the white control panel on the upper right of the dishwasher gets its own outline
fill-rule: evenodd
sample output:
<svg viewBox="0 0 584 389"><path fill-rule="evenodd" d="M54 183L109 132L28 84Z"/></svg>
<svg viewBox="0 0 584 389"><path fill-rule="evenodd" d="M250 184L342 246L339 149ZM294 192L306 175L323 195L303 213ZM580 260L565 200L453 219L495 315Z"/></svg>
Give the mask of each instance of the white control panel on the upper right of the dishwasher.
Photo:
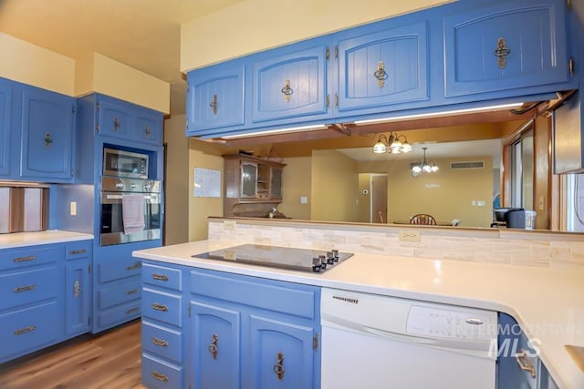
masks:
<svg viewBox="0 0 584 389"><path fill-rule="evenodd" d="M406 333L412 335L488 341L496 338L496 312L435 306L412 305L408 314Z"/></svg>

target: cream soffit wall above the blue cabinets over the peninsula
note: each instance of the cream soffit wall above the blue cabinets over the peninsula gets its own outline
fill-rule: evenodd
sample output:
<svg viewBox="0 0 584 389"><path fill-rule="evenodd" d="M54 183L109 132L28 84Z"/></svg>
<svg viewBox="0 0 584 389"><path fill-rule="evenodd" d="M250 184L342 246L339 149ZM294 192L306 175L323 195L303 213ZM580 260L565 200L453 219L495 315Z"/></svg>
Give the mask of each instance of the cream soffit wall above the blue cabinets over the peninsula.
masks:
<svg viewBox="0 0 584 389"><path fill-rule="evenodd" d="M352 0L246 0L181 26L181 70L186 72L449 1L362 0L357 5Z"/></svg>

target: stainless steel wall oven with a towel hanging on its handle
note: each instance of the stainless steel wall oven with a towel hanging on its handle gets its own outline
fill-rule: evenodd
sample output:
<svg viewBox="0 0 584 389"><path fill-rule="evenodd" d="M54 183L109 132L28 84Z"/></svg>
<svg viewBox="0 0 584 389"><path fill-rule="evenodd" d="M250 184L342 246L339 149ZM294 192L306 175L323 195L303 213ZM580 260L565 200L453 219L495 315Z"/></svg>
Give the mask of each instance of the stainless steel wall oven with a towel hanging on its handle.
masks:
<svg viewBox="0 0 584 389"><path fill-rule="evenodd" d="M102 177L99 244L161 238L161 182Z"/></svg>

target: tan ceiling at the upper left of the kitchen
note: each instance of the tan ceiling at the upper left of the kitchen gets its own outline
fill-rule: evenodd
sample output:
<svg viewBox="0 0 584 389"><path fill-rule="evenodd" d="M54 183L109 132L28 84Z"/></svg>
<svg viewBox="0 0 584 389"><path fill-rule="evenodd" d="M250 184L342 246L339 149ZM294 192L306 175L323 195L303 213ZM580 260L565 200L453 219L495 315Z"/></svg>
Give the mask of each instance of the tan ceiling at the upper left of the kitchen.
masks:
<svg viewBox="0 0 584 389"><path fill-rule="evenodd" d="M108 56L171 84L171 114L185 111L181 24L243 0L0 0L0 31L79 58Z"/></svg>

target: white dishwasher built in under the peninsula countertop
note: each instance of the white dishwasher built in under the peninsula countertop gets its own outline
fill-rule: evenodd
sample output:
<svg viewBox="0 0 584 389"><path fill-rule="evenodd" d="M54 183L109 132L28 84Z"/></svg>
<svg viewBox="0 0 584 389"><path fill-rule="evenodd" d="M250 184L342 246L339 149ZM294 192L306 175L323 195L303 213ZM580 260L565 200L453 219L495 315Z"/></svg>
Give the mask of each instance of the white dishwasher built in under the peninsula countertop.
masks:
<svg viewBox="0 0 584 389"><path fill-rule="evenodd" d="M323 288L322 389L494 389L497 314Z"/></svg>

